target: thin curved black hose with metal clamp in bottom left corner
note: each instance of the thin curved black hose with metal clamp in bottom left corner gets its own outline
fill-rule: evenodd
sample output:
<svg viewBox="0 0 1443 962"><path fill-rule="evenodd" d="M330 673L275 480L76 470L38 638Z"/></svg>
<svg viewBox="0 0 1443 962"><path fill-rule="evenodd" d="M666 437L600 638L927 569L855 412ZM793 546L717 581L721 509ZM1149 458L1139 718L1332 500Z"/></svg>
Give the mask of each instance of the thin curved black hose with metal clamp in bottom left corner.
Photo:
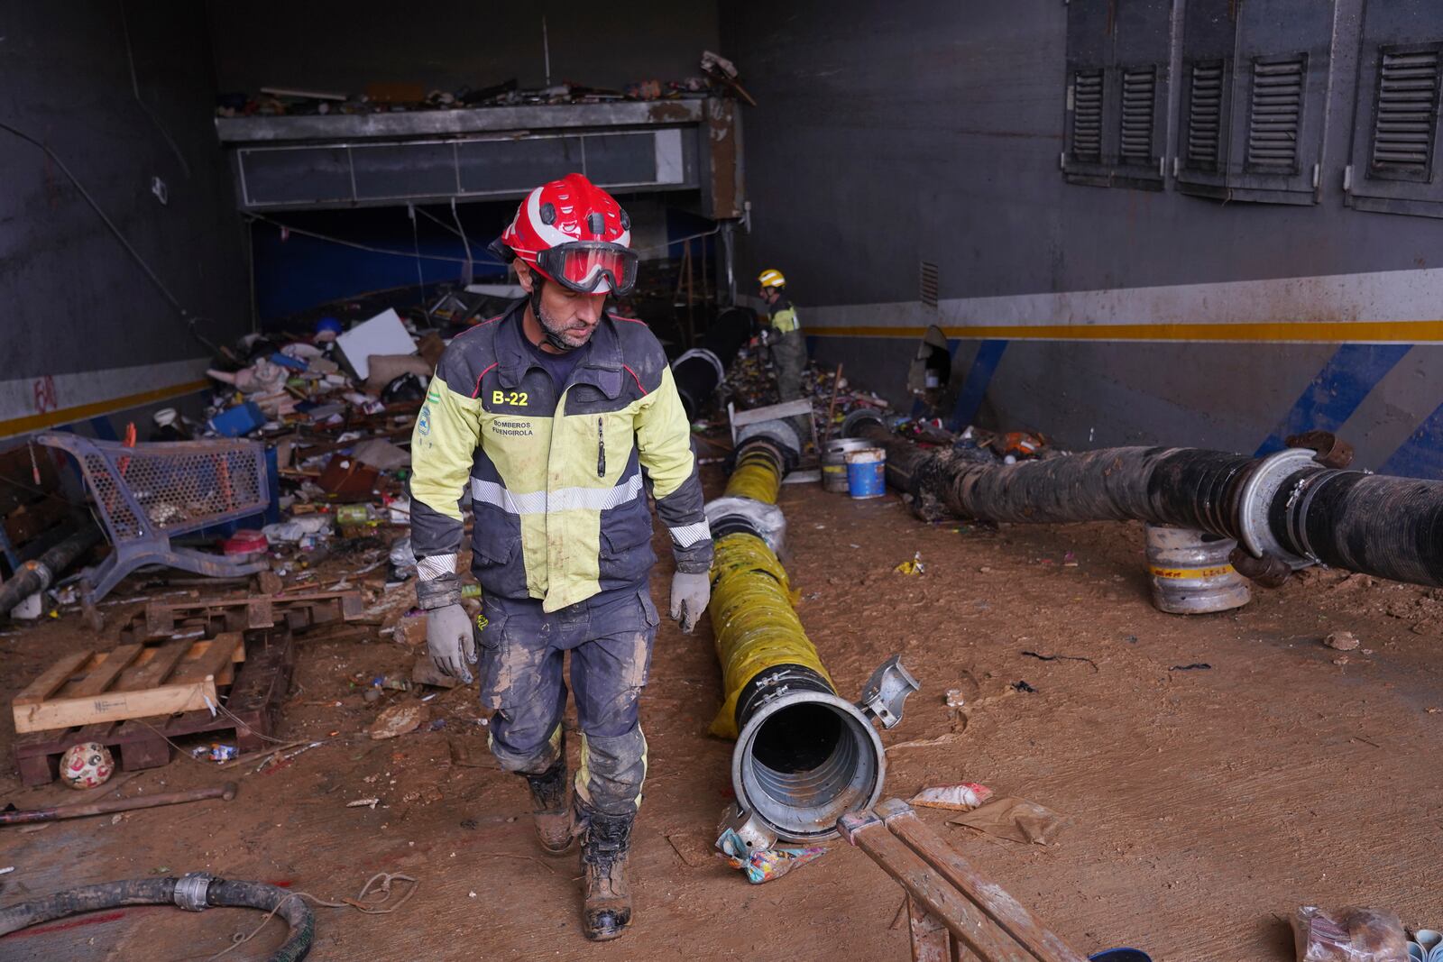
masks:
<svg viewBox="0 0 1443 962"><path fill-rule="evenodd" d="M84 886L58 891L45 899L22 901L17 906L0 909L0 936L84 912L101 912L120 906L169 904L189 912L201 912L212 906L274 912L290 926L290 933L286 936L286 942L270 955L270 962L304 959L316 935L316 917L296 893L260 881L228 881L206 873L192 873L182 878L131 878L102 886Z"/></svg>

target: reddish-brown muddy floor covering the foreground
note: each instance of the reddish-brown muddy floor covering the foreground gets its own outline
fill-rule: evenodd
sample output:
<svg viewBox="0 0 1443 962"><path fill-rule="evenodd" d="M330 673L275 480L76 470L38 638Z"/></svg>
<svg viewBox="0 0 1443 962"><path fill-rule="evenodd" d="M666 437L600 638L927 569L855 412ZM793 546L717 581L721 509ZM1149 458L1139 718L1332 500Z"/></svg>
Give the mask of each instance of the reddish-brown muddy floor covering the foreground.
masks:
<svg viewBox="0 0 1443 962"><path fill-rule="evenodd" d="M1049 845L949 826L945 812L924 819L1079 950L1284 962L1302 904L1371 904L1443 926L1443 593L1313 571L1241 612L1177 617L1147 600L1140 526L924 525L892 496L853 502L794 485L781 505L798 610L843 694L895 652L922 682L883 736L886 795L983 782L1065 815ZM922 574L893 571L915 554ZM662 561L658 603L670 574ZM111 625L127 612L110 610ZM1325 648L1335 630L1361 648ZM0 698L95 643L78 614L7 627ZM657 639L636 925L606 945L580 933L576 855L541 855L524 785L486 762L473 689L431 700L417 734L367 736L380 710L417 694L372 704L352 678L408 671L416 655L375 630L303 640L280 736L322 746L261 773L177 756L114 792L232 777L229 803L0 829L0 868L14 867L0 874L0 904L193 870L338 900L403 873L417 890L394 914L317 907L312 958L909 958L900 888L860 851L834 842L755 887L704 854L732 796L730 744L706 733L720 704L709 625L685 637L664 622ZM945 704L954 688L961 711ZM7 760L12 738L0 723ZM0 770L0 802L71 795ZM364 798L380 802L348 808ZM0 939L0 959L208 959L258 923L244 910L121 909ZM280 940L271 922L224 958L267 958Z"/></svg>

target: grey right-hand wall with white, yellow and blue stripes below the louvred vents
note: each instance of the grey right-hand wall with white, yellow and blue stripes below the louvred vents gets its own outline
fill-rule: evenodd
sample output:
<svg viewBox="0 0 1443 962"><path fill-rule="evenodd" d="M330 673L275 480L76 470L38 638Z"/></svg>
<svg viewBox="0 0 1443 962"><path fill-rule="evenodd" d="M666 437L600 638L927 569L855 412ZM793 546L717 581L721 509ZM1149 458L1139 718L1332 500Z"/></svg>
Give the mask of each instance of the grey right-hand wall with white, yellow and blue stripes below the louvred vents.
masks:
<svg viewBox="0 0 1443 962"><path fill-rule="evenodd" d="M1338 23L1359 10L1339 0ZM1078 447L1253 451L1341 428L1368 467L1436 475L1443 228L1343 206L1355 50L1335 52L1317 205L1076 186L1058 167L1066 13L726 4L723 50L759 102L743 267L785 270L815 356L903 405L937 323L964 417Z"/></svg>

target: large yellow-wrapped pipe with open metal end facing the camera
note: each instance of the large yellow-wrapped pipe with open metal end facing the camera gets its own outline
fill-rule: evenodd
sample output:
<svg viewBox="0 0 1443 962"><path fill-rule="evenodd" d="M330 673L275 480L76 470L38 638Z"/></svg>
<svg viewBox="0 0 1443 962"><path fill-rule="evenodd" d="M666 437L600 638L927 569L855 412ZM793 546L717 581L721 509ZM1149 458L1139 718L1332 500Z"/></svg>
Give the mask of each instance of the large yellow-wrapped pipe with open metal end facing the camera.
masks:
<svg viewBox="0 0 1443 962"><path fill-rule="evenodd" d="M733 828L769 847L834 835L841 815L876 803L886 760L870 720L900 721L918 685L892 658L861 704L837 694L776 557L785 535L776 495L801 446L779 421L749 431L726 493L707 505L716 538L709 612L726 691L711 731L737 740Z"/></svg>

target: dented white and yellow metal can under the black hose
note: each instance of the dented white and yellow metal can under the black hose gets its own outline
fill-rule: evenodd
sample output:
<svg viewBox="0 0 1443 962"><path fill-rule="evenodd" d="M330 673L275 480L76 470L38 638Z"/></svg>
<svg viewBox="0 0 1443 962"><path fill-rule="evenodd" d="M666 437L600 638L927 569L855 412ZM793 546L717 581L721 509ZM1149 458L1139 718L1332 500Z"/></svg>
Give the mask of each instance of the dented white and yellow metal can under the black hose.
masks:
<svg viewBox="0 0 1443 962"><path fill-rule="evenodd" d="M1206 614L1242 607L1251 584L1228 555L1232 538L1186 528L1147 525L1147 573L1153 606L1169 614Z"/></svg>

